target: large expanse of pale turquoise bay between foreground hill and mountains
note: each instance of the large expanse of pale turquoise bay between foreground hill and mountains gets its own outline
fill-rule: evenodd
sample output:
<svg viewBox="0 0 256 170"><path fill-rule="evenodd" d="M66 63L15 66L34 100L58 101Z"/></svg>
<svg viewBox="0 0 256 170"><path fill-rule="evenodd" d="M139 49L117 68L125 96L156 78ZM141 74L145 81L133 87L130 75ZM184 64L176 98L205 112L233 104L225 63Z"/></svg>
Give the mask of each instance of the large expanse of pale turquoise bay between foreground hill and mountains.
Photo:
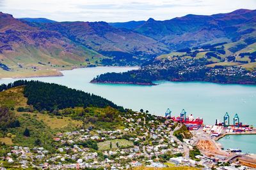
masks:
<svg viewBox="0 0 256 170"><path fill-rule="evenodd" d="M64 76L27 78L66 85L105 97L114 103L139 111L148 110L152 114L164 115L167 108L177 116L184 108L188 114L203 117L205 124L214 124L216 118L222 121L226 111L230 122L235 113L240 121L256 125L256 86L220 85L205 82L157 81L156 86L113 85L89 83L93 77L106 72L122 72L132 67L92 67L62 71ZM0 80L9 83L17 79Z"/></svg>

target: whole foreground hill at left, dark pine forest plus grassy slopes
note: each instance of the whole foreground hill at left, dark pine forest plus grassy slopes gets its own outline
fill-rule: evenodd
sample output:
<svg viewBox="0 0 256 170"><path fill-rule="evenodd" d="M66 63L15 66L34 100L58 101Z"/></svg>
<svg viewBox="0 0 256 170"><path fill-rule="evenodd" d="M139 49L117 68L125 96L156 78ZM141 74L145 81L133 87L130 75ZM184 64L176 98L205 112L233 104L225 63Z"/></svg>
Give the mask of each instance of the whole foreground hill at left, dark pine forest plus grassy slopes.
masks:
<svg viewBox="0 0 256 170"><path fill-rule="evenodd" d="M24 85L20 85L22 82ZM38 85L40 85L40 88ZM79 96L76 97L77 101L88 104L88 106L83 108L81 104L74 105L77 107L55 105L52 107L61 108L61 110L52 110L51 106L50 108L45 107L44 109L40 109L42 108L40 107L40 103L43 103L43 101L40 101L40 96L46 100L44 104L52 103L51 100L45 99L47 94L44 92L44 87L45 89L49 89L49 85L52 86L51 89L60 92L60 94L65 94L65 91L69 92L66 97L61 97L66 103L72 101L68 96L76 96L78 94ZM35 89L29 89L29 86L35 87ZM37 92L35 91L36 89L38 89ZM36 146L36 140L39 139L40 141L44 141L40 146L52 150L54 149L51 146L53 142L52 138L56 132L74 131L82 127L93 127L95 129L115 129L122 127L121 120L118 118L121 112L110 106L118 107L101 97L92 97L84 92L66 89L66 87L61 87L60 85L33 81L30 83L17 81L16 83L7 85L5 88L2 85L1 90L3 91L0 92L0 117L3 116L5 120L0 120L0 142L6 145L33 147ZM29 94L29 92L33 94ZM83 96L86 97L84 101ZM54 99L54 97L50 97ZM31 99L36 101L36 103L31 102ZM57 103L61 103L61 101L57 99ZM6 108L5 110L7 112L3 111L4 108ZM29 129L29 137L24 136L25 129Z"/></svg>

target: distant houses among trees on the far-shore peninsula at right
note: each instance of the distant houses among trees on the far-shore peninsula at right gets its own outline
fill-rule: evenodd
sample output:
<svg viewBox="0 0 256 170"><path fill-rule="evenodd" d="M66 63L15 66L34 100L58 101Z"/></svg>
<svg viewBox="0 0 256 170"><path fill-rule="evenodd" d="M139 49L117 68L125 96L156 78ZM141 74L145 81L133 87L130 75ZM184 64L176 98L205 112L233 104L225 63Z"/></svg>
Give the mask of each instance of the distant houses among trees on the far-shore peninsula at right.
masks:
<svg viewBox="0 0 256 170"><path fill-rule="evenodd" d="M226 61L227 62L227 61ZM191 79L202 78L207 80L207 78L214 78L216 76L223 76L225 78L234 77L248 77L256 78L256 71L247 71L244 67L239 66L214 66L210 67L209 61L206 59L186 59L180 58L172 60L163 60L161 62L153 62L148 66L141 67L141 71L149 71L150 74L156 74L159 71L172 70L173 74L177 72L179 76L184 75L194 75ZM199 76L198 76L199 75ZM179 76L173 77L178 80ZM185 77L186 78L186 77Z"/></svg>

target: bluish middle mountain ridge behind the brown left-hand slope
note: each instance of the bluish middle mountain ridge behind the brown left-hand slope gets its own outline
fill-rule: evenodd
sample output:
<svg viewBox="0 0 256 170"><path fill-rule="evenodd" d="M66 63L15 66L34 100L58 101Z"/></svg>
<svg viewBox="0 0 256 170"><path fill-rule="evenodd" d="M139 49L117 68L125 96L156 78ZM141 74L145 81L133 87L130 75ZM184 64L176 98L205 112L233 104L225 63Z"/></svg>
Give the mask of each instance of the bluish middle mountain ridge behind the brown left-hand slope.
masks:
<svg viewBox="0 0 256 170"><path fill-rule="evenodd" d="M133 31L117 29L106 22L55 22L37 23L32 26L60 32L61 35L86 48L114 57L118 64L132 64L134 61L140 62L141 59L156 57L159 53L170 51L155 39ZM113 60L105 64L113 64Z"/></svg>

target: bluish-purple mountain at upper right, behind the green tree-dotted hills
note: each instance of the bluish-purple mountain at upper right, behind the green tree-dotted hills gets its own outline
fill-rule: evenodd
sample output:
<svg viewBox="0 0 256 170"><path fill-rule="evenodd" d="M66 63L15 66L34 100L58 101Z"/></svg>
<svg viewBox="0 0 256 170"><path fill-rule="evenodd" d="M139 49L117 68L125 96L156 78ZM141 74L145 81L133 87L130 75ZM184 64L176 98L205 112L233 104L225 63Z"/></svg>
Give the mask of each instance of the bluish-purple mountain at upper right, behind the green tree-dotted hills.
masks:
<svg viewBox="0 0 256 170"><path fill-rule="evenodd" d="M256 10L236 10L231 13L186 15L171 20L150 18L134 31L161 41L171 50L211 43L231 42L255 32Z"/></svg>

